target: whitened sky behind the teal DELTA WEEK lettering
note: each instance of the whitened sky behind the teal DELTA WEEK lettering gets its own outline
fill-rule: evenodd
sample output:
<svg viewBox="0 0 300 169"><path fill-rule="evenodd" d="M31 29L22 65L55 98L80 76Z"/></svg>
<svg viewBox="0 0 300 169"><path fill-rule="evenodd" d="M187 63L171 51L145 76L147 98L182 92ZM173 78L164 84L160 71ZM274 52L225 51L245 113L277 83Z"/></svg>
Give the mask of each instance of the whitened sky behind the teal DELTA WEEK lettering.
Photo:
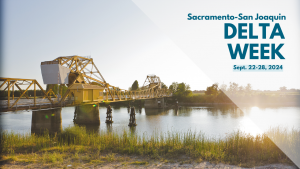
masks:
<svg viewBox="0 0 300 169"><path fill-rule="evenodd" d="M299 1L288 0L133 0L135 4L188 56L207 77L214 82L237 82L239 84L251 83L254 89L278 90L281 86L287 88L300 88L300 15ZM286 20L188 20L188 14L195 16L286 16ZM224 25L230 23L238 27L238 24L253 24L253 34L258 39L232 39L224 38ZM262 38L260 23L269 23L266 30L266 39ZM276 36L270 39L275 24L279 24L284 39ZM249 37L250 26L244 27ZM284 60L279 59L255 59L249 58L249 50L246 58L231 59L227 44L235 47L237 43L244 44L283 44L280 49ZM271 46L271 45L270 45ZM260 52L259 48L256 48ZM271 50L267 48L267 50ZM256 54L259 56L259 54ZM282 65L282 72L234 72L233 65Z"/></svg>

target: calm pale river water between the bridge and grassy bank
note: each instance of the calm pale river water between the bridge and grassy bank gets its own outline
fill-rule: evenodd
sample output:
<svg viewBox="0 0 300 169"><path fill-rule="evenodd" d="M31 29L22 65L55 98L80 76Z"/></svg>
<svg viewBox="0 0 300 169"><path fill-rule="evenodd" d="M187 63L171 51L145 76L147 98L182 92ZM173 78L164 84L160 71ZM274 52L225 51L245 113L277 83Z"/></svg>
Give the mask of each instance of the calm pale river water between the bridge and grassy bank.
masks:
<svg viewBox="0 0 300 169"><path fill-rule="evenodd" d="M106 107L99 107L100 125L85 125L88 131L129 130L127 107L113 106L112 125L106 125ZM37 132L45 127L54 132L73 126L75 107L62 108L53 122L47 115L34 115L32 111L5 112L0 115L1 129L19 133ZM54 115L53 115L54 116ZM52 122L51 122L52 118ZM187 106L175 109L136 108L137 126L130 131L139 135L158 132L202 132L212 137L224 137L240 130L253 136L261 134L270 127L300 129L300 107L244 107L234 106Z"/></svg>

